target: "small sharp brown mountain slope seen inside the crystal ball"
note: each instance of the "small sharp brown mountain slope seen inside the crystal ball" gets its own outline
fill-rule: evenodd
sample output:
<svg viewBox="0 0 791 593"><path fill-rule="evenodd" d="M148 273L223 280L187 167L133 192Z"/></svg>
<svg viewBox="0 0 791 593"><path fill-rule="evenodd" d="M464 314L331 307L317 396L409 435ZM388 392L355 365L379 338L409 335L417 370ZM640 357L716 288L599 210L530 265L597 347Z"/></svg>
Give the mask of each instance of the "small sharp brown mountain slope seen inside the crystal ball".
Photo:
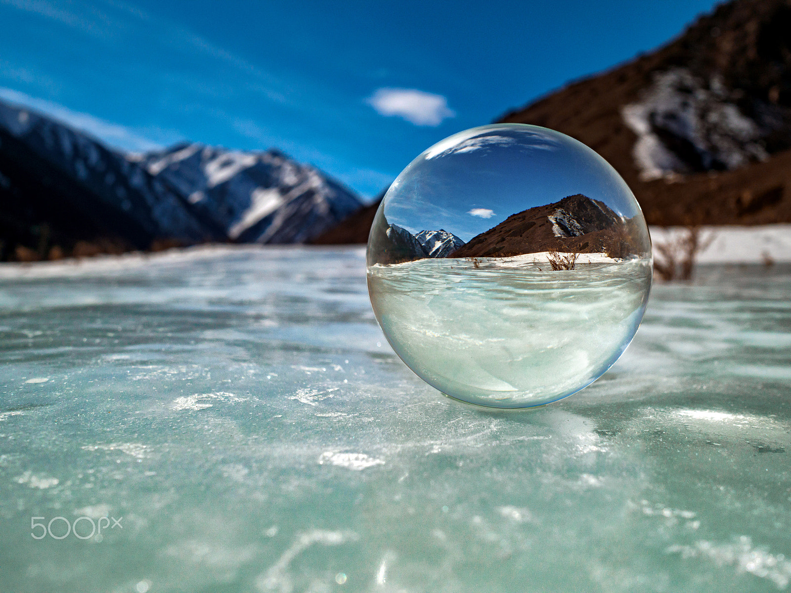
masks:
<svg viewBox="0 0 791 593"><path fill-rule="evenodd" d="M635 251L626 228L604 202L570 195L512 214L448 257L509 257L539 251L607 252L611 257L626 257Z"/></svg>

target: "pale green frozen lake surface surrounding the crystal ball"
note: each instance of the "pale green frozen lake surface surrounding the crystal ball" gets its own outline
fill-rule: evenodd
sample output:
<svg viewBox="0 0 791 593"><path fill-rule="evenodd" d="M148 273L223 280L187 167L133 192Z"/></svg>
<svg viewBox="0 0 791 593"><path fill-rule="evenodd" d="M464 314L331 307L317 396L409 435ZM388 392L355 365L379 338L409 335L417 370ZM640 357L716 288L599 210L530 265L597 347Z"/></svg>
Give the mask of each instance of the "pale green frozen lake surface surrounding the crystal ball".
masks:
<svg viewBox="0 0 791 593"><path fill-rule="evenodd" d="M361 248L3 266L0 591L788 591L789 296L654 285L600 380L497 412L389 349Z"/></svg>

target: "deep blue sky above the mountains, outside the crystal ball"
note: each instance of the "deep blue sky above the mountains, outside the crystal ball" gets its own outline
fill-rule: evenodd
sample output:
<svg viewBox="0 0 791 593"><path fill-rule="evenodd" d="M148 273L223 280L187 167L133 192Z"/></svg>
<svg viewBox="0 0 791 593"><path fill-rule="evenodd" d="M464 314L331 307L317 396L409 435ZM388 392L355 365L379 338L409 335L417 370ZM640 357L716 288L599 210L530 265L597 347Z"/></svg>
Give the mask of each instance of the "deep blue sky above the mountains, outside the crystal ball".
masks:
<svg viewBox="0 0 791 593"><path fill-rule="evenodd" d="M278 147L373 197L419 153L713 0L0 0L0 98L123 149Z"/></svg>

